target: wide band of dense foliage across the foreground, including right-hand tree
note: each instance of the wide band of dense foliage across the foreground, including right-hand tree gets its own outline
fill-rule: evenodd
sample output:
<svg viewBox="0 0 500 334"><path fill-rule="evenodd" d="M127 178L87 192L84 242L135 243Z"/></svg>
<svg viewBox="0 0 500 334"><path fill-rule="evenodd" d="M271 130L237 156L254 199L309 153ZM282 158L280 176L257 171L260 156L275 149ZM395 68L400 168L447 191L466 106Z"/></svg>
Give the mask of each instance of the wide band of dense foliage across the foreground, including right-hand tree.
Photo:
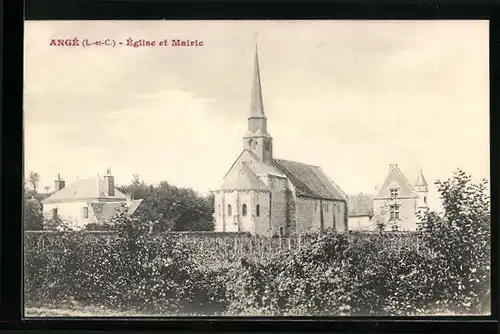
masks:
<svg viewBox="0 0 500 334"><path fill-rule="evenodd" d="M61 233L43 252L28 240L26 300L71 296L165 315L487 312L485 184L458 173L437 185L445 210L421 217L418 233L327 231L281 250L274 239L197 243L212 236L158 234L123 212L113 222L118 234Z"/></svg>

